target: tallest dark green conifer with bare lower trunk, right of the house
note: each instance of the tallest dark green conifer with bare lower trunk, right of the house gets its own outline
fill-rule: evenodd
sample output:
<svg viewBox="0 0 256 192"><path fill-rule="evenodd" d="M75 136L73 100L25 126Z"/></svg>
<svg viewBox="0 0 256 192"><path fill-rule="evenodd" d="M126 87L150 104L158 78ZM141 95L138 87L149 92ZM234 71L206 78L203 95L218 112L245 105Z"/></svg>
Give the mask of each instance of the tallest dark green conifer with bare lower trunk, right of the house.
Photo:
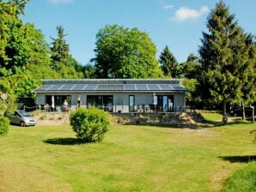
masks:
<svg viewBox="0 0 256 192"><path fill-rule="evenodd" d="M247 72L247 52L241 27L235 15L220 1L210 12L209 33L203 33L199 54L202 61L198 76L202 98L222 103L223 122L227 123L226 104L241 99L243 79Z"/></svg>

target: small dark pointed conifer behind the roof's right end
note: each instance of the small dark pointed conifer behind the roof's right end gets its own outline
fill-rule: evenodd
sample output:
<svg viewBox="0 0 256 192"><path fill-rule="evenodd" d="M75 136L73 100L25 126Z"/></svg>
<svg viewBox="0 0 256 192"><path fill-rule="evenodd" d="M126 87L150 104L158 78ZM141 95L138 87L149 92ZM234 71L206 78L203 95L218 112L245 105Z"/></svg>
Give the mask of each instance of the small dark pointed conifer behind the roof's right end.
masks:
<svg viewBox="0 0 256 192"><path fill-rule="evenodd" d="M175 59L172 52L169 50L168 46L165 46L162 51L159 63L161 63L161 69L164 75L169 77L177 78L179 76L179 64Z"/></svg>

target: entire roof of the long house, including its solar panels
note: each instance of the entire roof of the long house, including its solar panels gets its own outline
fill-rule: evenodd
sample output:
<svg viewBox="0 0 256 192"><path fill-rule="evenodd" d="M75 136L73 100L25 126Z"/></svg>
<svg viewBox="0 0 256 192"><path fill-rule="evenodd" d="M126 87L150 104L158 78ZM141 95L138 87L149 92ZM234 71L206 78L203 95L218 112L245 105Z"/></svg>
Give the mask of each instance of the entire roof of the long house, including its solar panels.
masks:
<svg viewBox="0 0 256 192"><path fill-rule="evenodd" d="M35 93L61 92L186 92L181 80L43 80Z"/></svg>

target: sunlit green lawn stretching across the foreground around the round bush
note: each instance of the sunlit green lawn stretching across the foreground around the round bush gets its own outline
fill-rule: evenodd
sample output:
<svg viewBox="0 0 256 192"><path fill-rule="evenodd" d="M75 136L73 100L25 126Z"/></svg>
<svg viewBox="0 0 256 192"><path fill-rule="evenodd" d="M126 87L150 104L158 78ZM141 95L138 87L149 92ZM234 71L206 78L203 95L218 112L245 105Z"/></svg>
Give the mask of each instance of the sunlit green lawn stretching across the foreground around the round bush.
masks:
<svg viewBox="0 0 256 192"><path fill-rule="evenodd" d="M220 191L256 154L254 127L113 126L81 144L68 125L11 126L0 137L0 191Z"/></svg>

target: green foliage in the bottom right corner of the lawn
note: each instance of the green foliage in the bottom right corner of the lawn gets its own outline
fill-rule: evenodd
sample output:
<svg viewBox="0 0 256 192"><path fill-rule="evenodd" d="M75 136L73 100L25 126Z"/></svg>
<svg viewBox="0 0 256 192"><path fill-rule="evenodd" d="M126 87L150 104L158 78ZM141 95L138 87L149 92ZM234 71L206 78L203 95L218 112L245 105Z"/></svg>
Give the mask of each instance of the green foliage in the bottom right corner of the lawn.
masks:
<svg viewBox="0 0 256 192"><path fill-rule="evenodd" d="M223 192L256 191L256 162L249 163L239 171L235 171Z"/></svg>

